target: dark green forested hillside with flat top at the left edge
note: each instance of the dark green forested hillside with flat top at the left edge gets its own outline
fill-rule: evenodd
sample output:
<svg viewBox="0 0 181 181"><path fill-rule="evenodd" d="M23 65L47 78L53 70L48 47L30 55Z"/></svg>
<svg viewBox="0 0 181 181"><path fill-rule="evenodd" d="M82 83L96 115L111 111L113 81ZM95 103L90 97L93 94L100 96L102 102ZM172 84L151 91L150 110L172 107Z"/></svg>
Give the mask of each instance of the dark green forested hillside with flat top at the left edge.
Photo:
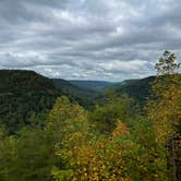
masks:
<svg viewBox="0 0 181 181"><path fill-rule="evenodd" d="M32 124L31 117L51 109L61 96L52 81L33 71L0 71L0 122L9 133Z"/></svg>

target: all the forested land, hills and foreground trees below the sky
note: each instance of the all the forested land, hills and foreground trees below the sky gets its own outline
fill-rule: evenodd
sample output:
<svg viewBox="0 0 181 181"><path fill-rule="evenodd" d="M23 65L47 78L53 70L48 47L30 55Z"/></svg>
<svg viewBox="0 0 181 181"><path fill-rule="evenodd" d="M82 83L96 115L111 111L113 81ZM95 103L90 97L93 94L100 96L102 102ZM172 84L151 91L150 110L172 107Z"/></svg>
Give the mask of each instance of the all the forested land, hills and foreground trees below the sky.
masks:
<svg viewBox="0 0 181 181"><path fill-rule="evenodd" d="M155 68L100 86L1 70L0 181L179 180L180 64Z"/></svg>

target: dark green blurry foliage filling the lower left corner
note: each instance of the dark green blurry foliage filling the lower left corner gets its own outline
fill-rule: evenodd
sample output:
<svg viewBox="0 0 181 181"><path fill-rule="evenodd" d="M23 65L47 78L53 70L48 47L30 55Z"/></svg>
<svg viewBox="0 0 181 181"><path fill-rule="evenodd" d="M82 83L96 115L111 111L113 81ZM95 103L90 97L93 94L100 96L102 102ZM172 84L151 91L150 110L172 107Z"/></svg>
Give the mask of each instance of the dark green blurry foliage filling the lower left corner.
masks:
<svg viewBox="0 0 181 181"><path fill-rule="evenodd" d="M2 181L50 181L56 161L51 136L44 130L24 129L0 141Z"/></svg>

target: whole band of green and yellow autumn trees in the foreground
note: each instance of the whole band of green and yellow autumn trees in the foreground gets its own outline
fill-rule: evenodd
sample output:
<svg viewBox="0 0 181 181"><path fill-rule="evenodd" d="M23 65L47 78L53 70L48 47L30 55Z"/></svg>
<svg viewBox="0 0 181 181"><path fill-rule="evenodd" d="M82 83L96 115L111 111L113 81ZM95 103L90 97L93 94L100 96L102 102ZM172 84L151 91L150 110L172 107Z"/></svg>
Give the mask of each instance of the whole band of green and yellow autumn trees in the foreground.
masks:
<svg viewBox="0 0 181 181"><path fill-rule="evenodd" d="M181 76L174 55L156 64L145 112L131 99L109 95L87 111L57 99L41 128L8 135L0 126L1 181L169 181L167 144L181 131ZM45 118L45 117L44 117Z"/></svg>

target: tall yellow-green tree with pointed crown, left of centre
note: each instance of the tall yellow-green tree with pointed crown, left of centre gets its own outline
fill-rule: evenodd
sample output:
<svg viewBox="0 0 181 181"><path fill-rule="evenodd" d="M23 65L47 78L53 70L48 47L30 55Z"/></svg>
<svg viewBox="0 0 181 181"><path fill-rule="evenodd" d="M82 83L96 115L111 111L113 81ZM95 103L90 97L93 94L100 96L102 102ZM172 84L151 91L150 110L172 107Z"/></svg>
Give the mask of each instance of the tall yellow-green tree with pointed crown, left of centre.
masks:
<svg viewBox="0 0 181 181"><path fill-rule="evenodd" d="M46 126L46 131L52 135L53 154L59 162L51 169L56 180L79 177L82 168L79 158L90 138L88 128L87 113L81 106L71 104L64 96L56 101Z"/></svg>

